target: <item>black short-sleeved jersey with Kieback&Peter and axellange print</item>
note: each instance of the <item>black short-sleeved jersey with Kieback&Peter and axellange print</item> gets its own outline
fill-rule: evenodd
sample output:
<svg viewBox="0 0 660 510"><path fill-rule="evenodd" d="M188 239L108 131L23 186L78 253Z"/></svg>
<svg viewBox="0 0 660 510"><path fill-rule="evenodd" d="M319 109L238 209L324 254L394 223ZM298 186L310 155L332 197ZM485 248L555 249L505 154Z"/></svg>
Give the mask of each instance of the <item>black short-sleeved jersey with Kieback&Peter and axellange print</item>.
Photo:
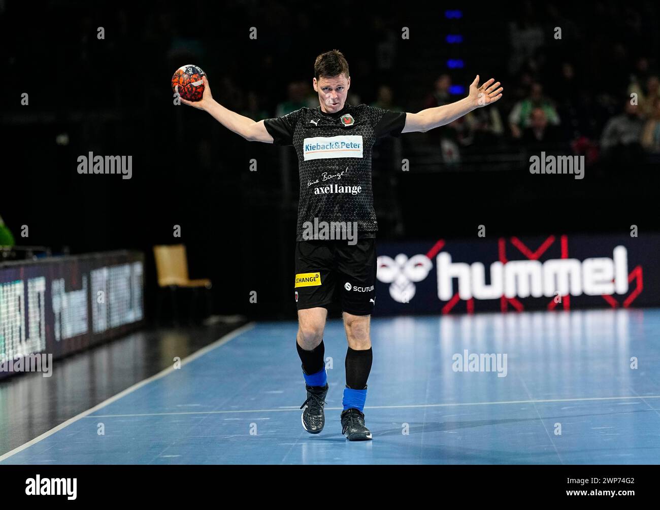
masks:
<svg viewBox="0 0 660 510"><path fill-rule="evenodd" d="M264 125L273 143L298 154L298 241L304 224L357 222L358 238L376 236L372 193L372 148L380 137L398 137L406 114L360 104L335 113L300 108Z"/></svg>

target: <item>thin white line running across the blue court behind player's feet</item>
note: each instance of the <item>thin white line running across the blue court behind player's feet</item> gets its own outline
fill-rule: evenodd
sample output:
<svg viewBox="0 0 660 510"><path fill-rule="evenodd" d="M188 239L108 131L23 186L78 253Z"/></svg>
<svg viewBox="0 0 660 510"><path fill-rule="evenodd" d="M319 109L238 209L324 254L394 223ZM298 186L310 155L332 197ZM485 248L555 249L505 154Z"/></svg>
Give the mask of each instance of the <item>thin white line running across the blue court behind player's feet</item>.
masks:
<svg viewBox="0 0 660 510"><path fill-rule="evenodd" d="M499 402L454 402L449 404L406 404L401 406L364 406L365 409L400 409L417 407L449 407L449 406L492 406L498 404L539 404L543 402L587 402L589 400L643 400L644 398L660 398L660 395L644 397L587 397L587 398L549 398L547 400L500 400ZM325 407L327 411L336 411L343 407ZM278 409L243 409L225 411L187 411L187 412L148 412L140 414L94 414L82 418L131 418L136 416L173 416L179 414L232 414L236 412L281 412L300 411L299 407ZM2 459L0 459L2 460Z"/></svg>

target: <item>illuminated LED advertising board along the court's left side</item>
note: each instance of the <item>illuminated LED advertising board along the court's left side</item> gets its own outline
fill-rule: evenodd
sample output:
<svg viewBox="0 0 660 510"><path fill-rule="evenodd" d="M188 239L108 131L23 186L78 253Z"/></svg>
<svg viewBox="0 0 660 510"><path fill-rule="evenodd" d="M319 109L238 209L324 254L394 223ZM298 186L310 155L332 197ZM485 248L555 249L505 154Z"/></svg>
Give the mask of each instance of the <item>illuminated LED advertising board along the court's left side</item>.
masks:
<svg viewBox="0 0 660 510"><path fill-rule="evenodd" d="M143 267L134 251L0 264L0 378L10 361L57 359L140 325Z"/></svg>

